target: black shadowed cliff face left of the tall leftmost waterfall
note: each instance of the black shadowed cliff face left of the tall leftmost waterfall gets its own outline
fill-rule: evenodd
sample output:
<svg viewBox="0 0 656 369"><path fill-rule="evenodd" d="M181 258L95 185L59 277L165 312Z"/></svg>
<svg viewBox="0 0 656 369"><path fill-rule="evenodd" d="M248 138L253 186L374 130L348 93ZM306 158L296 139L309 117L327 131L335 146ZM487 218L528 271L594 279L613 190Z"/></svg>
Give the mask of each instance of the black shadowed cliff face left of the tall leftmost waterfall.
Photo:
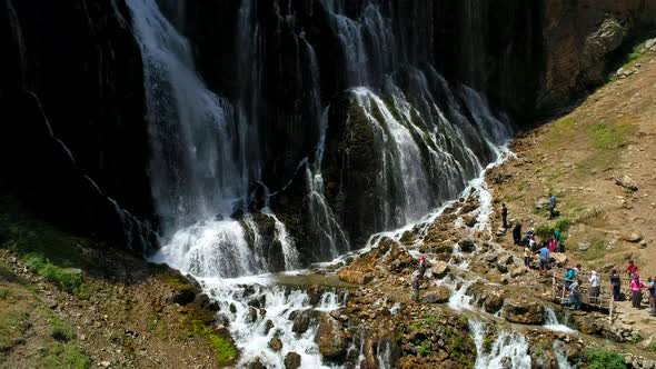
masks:
<svg viewBox="0 0 656 369"><path fill-rule="evenodd" d="M0 2L2 183L141 249L151 216L141 58L120 1ZM116 201L115 201L116 200Z"/></svg>

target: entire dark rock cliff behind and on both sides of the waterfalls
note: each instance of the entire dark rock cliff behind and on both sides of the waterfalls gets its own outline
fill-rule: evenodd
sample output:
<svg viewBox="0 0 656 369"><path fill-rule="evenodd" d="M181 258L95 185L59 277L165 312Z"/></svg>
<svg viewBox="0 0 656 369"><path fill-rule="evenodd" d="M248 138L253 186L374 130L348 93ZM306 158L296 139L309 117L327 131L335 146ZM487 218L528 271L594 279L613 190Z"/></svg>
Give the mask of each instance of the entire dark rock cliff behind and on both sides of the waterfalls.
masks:
<svg viewBox="0 0 656 369"><path fill-rule="evenodd" d="M321 109L339 104L340 98L335 97L346 88L382 90L385 76L396 74L395 82L408 92L416 88L413 78L428 76L433 80L440 74L453 86L465 83L485 92L493 106L524 119L561 107L603 81L609 56L628 37L654 26L656 19L656 4L648 0L513 0L501 4L491 0L394 0L375 1L376 11L365 0L159 3L190 40L209 88L233 103L235 119L247 121L259 132L240 143L249 146L247 159L258 163L249 170L271 190L294 182L275 205L305 240L322 230L302 225L301 219L312 212L306 198L311 183L298 163L306 158L316 162ZM29 196L38 195L38 207L51 215L74 213L69 222L83 223L85 229L113 235L119 228L140 229L145 221L157 223L148 174L141 57L125 2L2 0L0 19L0 40L6 48L0 100L10 109L6 111L23 117L20 123L3 128L2 160L9 164L1 174L3 182ZM375 51L369 52L375 58L356 60L345 51L348 34L337 29L348 28L338 24L348 19L369 22L367 30L360 29L359 43L349 47ZM431 87L430 92L435 91ZM450 102L448 97L435 94L436 100ZM330 124L346 127L345 112L331 112L332 117L341 114L341 121ZM43 132L43 121L49 128L38 138L36 132ZM371 202L372 189L357 188L359 183L350 192L340 192L344 166L339 162L345 157L339 147L344 148L347 139L366 138L351 133L356 131L332 128L329 132L329 139L339 142L327 142L326 157L332 161L324 163L326 195L337 218L348 222L351 236L361 240L394 222L375 217L362 220L347 206L351 199L350 203L387 211ZM43 140L56 142L74 169L57 161ZM361 161L349 163L361 167L354 179L366 179L380 164L366 161L371 148L361 149ZM426 160L426 152L418 154ZM488 157L486 152L476 154ZM464 172L473 170L465 168ZM80 190L79 183L93 183L93 195ZM389 193L399 190L391 184L388 188ZM453 193L445 190L441 195ZM110 199L135 217L121 216ZM67 210L61 211L63 208ZM394 212L389 216L396 217ZM128 218L132 220L126 223ZM132 235L121 241L135 239L145 238ZM338 243L337 249L347 248L342 245L346 240Z"/></svg>

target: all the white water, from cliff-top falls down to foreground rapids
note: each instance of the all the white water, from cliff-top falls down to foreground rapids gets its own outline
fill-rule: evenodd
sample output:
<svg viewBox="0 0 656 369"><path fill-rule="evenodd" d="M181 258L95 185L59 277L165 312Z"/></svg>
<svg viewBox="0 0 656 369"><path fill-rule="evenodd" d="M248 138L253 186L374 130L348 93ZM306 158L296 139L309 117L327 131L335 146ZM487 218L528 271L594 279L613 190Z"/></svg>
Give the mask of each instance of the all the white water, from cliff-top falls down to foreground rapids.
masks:
<svg viewBox="0 0 656 369"><path fill-rule="evenodd" d="M279 246L282 268L291 271L306 267L285 218L269 202L275 193L269 193L262 182L266 40L257 21L257 3L245 0L239 8L239 89L233 100L206 87L195 70L191 46L162 16L155 0L127 3L143 57L151 186L163 240L152 260L199 278L220 305L220 315L240 349L238 366L259 361L281 368L288 352L299 353L302 367L326 366L315 342L318 322L315 319L307 330L295 332L294 315L337 309L345 303L345 297L324 291L319 301L312 301L300 288L276 286L268 275L275 268L266 245L268 235L260 226L261 218L258 220L249 207L250 186L260 183L267 199L261 209L256 209L257 216L272 225L272 242ZM377 230L428 223L439 212L434 209L458 198L468 186L481 192L478 218L487 225L491 197L481 178L475 183L471 180L500 157L510 126L504 117L496 118L485 97L476 91L450 86L430 66L419 69L402 62L407 58L398 53L391 20L375 2L369 2L357 19L344 13L342 1L321 3L346 59L344 66L338 66L344 72L344 93L366 117L375 136L380 171L371 178L370 187L379 189L377 201L382 203L381 213L374 215L382 219ZM280 19L294 23L291 13ZM309 86L307 97L299 100L309 111L304 114L304 123L317 132L314 150L306 153L297 169L302 170L299 172L307 190L304 201L309 216L304 220L308 222L304 230L316 242L304 246L310 247L319 260L329 260L365 245L351 245L344 220L327 198L325 153L330 139L328 117L334 107L321 97L315 47L302 32L295 36L295 42L299 73L306 76L304 86ZM464 262L459 267L466 269ZM449 306L473 309L466 292L474 280L460 282ZM479 328L483 330L483 326ZM274 337L282 342L280 351L269 347ZM364 355L362 340L356 347L354 339L349 350L358 351L358 362ZM524 368L526 360L519 356L526 355L526 349L524 337L504 333L490 353L479 350L477 367L510 358L514 368ZM375 351L381 368L394 366L389 342Z"/></svg>

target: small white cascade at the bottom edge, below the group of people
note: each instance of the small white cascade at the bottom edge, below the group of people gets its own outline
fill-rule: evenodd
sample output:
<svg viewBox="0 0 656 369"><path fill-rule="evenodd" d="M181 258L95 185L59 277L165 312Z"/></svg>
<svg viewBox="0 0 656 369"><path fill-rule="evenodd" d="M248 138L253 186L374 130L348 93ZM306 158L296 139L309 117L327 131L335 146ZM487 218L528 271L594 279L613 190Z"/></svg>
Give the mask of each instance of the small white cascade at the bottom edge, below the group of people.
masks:
<svg viewBox="0 0 656 369"><path fill-rule="evenodd" d="M528 369L530 368L530 356L528 356L528 342L526 337L519 332L498 332L497 338L489 348L485 350L485 337L487 329L485 323L470 320L469 330L474 337L476 346L476 369L487 368L511 368Z"/></svg>

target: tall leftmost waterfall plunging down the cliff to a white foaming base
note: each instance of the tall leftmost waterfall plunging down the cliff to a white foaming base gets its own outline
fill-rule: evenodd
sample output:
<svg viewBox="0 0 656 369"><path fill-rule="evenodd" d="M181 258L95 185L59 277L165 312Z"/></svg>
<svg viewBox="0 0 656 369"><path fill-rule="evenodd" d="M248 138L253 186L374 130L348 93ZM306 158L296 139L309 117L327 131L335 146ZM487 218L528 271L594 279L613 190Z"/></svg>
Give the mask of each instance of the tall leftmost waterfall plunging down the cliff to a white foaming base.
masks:
<svg viewBox="0 0 656 369"><path fill-rule="evenodd" d="M166 241L152 259L200 277L266 272L257 225L248 215L242 221L230 218L245 206L249 178L259 171L249 151L257 148L249 141L257 141L254 128L243 113L235 121L231 104L206 88L190 46L153 0L127 3L143 58L151 183ZM286 268L297 268L285 226L275 222Z"/></svg>

